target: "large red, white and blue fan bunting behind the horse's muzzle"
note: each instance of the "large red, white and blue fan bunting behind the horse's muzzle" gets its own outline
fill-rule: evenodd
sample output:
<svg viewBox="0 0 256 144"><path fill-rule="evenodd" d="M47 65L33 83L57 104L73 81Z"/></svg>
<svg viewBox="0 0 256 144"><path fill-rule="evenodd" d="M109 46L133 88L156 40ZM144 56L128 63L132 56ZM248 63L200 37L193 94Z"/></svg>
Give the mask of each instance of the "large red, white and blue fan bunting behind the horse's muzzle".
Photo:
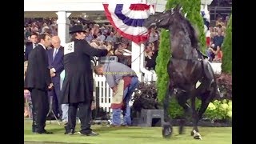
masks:
<svg viewBox="0 0 256 144"><path fill-rule="evenodd" d="M148 39L147 29L143 22L154 14L154 6L136 4L103 4L106 18L115 30L123 37L137 44Z"/></svg>

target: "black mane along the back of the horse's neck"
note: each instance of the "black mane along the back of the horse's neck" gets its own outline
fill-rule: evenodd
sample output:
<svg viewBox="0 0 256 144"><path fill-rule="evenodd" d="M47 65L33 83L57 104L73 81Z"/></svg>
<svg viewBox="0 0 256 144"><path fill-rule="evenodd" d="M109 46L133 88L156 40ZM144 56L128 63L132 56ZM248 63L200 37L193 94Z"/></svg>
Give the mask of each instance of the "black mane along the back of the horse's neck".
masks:
<svg viewBox="0 0 256 144"><path fill-rule="evenodd" d="M190 21L188 21L186 18L182 16L182 14L180 14L180 17L186 26L186 30L189 34L191 46L198 50L198 35L196 34L194 27L191 25Z"/></svg>

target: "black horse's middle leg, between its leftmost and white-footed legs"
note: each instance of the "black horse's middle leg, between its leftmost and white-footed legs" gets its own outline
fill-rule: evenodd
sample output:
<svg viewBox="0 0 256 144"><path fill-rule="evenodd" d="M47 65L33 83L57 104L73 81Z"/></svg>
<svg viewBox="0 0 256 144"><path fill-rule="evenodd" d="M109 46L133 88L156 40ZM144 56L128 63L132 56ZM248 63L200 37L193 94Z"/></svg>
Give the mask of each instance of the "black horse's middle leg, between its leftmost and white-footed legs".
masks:
<svg viewBox="0 0 256 144"><path fill-rule="evenodd" d="M189 106L189 104L186 102L187 101L187 98L186 98L186 95L187 93L185 92L182 92L180 94L177 95L177 101L178 101L178 104L180 106L182 106L183 110L184 110L184 114L183 114L183 118L180 122L179 122L179 130L178 130L178 134L185 134L184 133L184 126L186 124L186 117L188 115L191 115L191 108Z"/></svg>

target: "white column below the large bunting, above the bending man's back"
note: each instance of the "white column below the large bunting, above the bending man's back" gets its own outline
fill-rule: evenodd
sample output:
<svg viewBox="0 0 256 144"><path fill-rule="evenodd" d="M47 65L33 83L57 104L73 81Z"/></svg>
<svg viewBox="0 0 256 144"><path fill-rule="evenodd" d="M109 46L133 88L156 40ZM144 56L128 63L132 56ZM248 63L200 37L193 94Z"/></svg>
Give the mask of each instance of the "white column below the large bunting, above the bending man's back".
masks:
<svg viewBox="0 0 256 144"><path fill-rule="evenodd" d="M131 43L131 69L134 70L134 72L138 75L138 80L141 82L142 74L140 72L139 66L140 66L140 49L141 46L137 45L135 42ZM144 54L142 54L144 56Z"/></svg>

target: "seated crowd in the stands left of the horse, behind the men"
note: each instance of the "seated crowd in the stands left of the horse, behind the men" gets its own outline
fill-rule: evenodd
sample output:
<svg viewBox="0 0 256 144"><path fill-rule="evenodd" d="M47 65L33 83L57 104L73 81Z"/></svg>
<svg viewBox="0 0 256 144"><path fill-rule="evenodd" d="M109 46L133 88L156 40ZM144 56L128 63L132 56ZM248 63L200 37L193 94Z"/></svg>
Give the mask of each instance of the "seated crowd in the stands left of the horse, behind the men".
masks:
<svg viewBox="0 0 256 144"><path fill-rule="evenodd" d="M90 46L98 49L110 50L110 55L118 57L118 62L131 66L131 41L123 38L111 25L85 22L78 18L70 18L70 26L81 24L86 30L86 41ZM31 34L48 33L58 35L57 20L55 18L26 18L24 23L24 53L27 43L32 42ZM159 33L152 29L149 42L146 42L146 68L154 70L155 58L158 54Z"/></svg>

